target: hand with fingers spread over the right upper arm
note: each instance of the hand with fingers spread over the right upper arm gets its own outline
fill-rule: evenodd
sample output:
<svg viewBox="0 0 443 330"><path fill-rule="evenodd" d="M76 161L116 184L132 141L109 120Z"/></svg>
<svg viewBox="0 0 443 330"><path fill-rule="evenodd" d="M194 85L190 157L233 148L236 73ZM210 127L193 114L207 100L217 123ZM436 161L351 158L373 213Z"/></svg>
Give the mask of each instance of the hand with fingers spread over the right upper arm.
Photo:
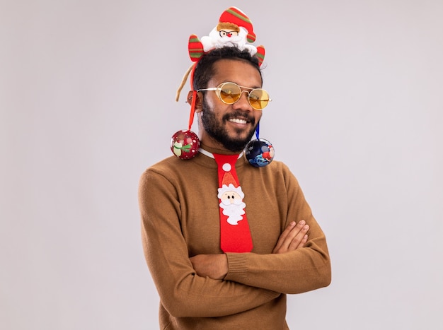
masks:
<svg viewBox="0 0 443 330"><path fill-rule="evenodd" d="M286 253L304 247L304 244L308 241L308 235L306 234L308 230L309 225L306 225L304 220L301 220L297 225L292 221L280 235L272 253Z"/></svg>

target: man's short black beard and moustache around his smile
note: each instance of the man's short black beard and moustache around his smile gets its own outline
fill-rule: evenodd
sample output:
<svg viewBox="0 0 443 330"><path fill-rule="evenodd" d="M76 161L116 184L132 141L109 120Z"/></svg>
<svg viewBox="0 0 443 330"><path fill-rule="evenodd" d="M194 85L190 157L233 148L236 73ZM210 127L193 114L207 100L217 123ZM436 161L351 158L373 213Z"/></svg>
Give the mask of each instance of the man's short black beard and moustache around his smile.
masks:
<svg viewBox="0 0 443 330"><path fill-rule="evenodd" d="M203 128L207 132L209 136L212 137L212 139L218 141L219 143L222 143L222 146L226 148L229 151L232 151L234 153L238 153L243 151L243 149L246 147L249 141L251 141L251 138L254 135L255 132L255 118L252 116L247 116L243 114L240 111L236 111L234 113L226 113L222 117L222 122L217 122L217 118L215 117L214 112L212 112L211 109L209 109L209 105L207 105L207 102L205 98L203 98L202 102L202 124ZM241 138L240 134L243 133L243 130L237 129L237 137L231 137L229 136L228 132L226 131L226 128L223 124L228 122L230 117L240 117L243 119L246 119L248 122L251 122L253 127L248 132L247 136L245 138Z"/></svg>

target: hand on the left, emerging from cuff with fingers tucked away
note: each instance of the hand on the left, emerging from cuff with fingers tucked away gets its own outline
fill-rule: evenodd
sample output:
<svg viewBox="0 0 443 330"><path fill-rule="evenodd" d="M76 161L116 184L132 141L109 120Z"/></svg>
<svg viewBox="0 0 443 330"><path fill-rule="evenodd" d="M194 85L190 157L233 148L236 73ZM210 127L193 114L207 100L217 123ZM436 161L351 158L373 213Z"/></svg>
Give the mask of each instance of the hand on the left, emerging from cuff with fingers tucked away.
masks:
<svg viewBox="0 0 443 330"><path fill-rule="evenodd" d="M228 273L226 254L197 254L190 261L198 276L222 280Z"/></svg>

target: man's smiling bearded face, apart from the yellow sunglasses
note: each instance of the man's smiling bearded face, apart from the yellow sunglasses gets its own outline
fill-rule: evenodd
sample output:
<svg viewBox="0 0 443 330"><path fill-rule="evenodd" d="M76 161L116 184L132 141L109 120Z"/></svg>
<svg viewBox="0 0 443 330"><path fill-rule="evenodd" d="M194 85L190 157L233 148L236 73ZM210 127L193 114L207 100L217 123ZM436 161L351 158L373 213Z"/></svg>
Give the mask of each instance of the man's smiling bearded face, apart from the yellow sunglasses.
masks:
<svg viewBox="0 0 443 330"><path fill-rule="evenodd" d="M260 73L247 62L222 59L214 64L215 74L209 80L208 88L221 83L232 82L248 88L261 88ZM249 89L246 89L249 91ZM214 91L205 92L202 101L201 121L205 135L229 151L239 152L251 141L262 112L253 110L248 102L248 93L242 93L240 100L226 105Z"/></svg>

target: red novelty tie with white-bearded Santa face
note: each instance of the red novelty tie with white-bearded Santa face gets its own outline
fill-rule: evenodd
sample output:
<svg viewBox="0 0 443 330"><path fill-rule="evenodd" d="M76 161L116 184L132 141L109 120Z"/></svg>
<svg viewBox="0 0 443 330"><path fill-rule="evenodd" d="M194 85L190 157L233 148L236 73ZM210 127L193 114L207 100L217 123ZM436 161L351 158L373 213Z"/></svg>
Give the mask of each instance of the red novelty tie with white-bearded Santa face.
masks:
<svg viewBox="0 0 443 330"><path fill-rule="evenodd" d="M220 247L223 252L251 252L253 242L243 203L243 191L238 183L238 155L214 153L219 173Z"/></svg>

